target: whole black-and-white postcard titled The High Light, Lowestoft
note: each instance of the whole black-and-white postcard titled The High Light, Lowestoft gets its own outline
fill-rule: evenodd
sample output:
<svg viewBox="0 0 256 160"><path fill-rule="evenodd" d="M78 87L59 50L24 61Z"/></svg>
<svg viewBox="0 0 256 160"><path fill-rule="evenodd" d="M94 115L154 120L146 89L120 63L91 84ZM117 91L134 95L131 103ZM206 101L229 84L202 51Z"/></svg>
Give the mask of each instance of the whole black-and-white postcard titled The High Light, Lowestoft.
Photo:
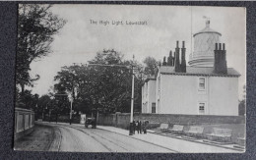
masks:
<svg viewBox="0 0 256 160"><path fill-rule="evenodd" d="M246 8L17 9L15 150L246 151Z"/></svg>

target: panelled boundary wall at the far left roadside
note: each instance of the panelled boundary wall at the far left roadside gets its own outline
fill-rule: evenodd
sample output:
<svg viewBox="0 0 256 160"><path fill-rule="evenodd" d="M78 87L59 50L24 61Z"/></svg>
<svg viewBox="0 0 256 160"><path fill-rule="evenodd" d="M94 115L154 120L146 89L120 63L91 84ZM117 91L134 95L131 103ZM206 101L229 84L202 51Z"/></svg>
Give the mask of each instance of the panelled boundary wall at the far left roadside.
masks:
<svg viewBox="0 0 256 160"><path fill-rule="evenodd" d="M34 112L32 110L15 108L14 139L32 133L34 126Z"/></svg>

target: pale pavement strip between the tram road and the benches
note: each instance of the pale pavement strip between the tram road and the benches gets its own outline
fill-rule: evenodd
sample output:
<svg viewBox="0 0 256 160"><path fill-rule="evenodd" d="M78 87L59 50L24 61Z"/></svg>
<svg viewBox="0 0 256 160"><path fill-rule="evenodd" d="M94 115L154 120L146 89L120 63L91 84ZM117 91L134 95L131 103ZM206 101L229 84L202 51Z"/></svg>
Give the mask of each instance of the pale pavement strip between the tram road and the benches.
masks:
<svg viewBox="0 0 256 160"><path fill-rule="evenodd" d="M72 126L83 127L81 124L72 124ZM185 153L243 153L241 148L233 147L233 144L219 145L211 142L205 142L204 139L187 138L183 136L169 136L166 133L156 133L148 130L147 134L129 135L129 131L111 126L96 126L97 129L105 130L112 133L119 133L125 136L146 141L158 146L162 146L176 152Z"/></svg>

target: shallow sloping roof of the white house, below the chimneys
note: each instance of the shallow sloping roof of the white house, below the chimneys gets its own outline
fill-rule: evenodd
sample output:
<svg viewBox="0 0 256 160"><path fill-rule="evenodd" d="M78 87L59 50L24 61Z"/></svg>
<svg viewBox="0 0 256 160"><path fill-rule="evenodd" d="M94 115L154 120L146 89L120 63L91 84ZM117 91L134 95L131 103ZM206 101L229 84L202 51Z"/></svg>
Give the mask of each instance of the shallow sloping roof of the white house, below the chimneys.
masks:
<svg viewBox="0 0 256 160"><path fill-rule="evenodd" d="M161 66L160 74L180 76L209 76L209 77L239 77L240 74L232 68L227 68L227 74L215 74L213 67L190 67L187 66L186 73L176 73L173 66Z"/></svg>

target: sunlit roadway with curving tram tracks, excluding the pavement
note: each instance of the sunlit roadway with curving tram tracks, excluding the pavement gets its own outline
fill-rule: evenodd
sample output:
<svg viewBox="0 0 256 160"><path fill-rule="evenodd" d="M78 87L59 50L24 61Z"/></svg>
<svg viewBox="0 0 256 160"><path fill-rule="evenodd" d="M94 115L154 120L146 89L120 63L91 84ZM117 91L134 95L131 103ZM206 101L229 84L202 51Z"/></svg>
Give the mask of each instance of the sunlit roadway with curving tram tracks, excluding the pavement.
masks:
<svg viewBox="0 0 256 160"><path fill-rule="evenodd" d="M100 129L50 124L58 130L59 151L76 152L176 152L146 141ZM143 136L144 134L142 134ZM147 136L147 134L145 134Z"/></svg>

